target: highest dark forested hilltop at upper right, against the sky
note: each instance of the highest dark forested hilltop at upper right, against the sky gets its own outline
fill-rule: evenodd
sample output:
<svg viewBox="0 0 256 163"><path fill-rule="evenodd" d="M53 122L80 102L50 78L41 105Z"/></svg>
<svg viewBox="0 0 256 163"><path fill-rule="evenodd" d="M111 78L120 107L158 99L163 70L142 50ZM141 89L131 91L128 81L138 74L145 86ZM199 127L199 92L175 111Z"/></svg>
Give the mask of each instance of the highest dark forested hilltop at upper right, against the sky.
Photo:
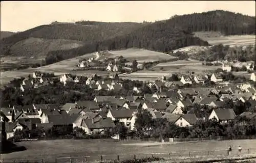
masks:
<svg viewBox="0 0 256 163"><path fill-rule="evenodd" d="M189 32L218 31L223 35L255 34L255 16L223 10L173 16L169 24L181 26Z"/></svg>

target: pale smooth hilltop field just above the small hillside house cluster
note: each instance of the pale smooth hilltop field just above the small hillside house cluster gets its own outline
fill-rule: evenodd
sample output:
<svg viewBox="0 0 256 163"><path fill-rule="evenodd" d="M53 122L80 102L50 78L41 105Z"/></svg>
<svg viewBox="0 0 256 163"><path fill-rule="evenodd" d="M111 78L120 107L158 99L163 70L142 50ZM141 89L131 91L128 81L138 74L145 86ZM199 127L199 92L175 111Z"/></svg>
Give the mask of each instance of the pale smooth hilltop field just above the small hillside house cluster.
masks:
<svg viewBox="0 0 256 163"><path fill-rule="evenodd" d="M167 55L162 52L145 50L145 49L136 49L136 48L130 48L125 50L115 50L115 51L110 51L110 53L112 53L114 57L123 56L129 61L137 60L138 63L176 59L176 57Z"/></svg>

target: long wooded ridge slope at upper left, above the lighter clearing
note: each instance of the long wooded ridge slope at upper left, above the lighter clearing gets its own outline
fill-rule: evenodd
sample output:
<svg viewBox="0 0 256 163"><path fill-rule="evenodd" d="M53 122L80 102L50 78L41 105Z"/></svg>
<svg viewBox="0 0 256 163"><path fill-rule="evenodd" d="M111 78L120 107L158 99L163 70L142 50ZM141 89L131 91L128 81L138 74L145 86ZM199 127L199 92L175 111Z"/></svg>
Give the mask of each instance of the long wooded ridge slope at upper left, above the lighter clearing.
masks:
<svg viewBox="0 0 256 163"><path fill-rule="evenodd" d="M90 22L90 21L89 21ZM144 23L108 23L108 22L95 22L94 25L87 25L87 21L77 23L52 23L49 25L41 25L36 28L20 32L8 38L1 40L1 55L3 56L19 56L20 53L11 51L12 46L19 41L28 38L41 38L41 39L65 39L82 41L90 44L95 41L102 41L104 39L113 38L115 36L129 33L136 28L145 25ZM25 46L32 46L26 44ZM22 50L22 49L20 49ZM26 52L21 53L25 54ZM26 55L26 54L25 54ZM37 55L37 54L35 54Z"/></svg>

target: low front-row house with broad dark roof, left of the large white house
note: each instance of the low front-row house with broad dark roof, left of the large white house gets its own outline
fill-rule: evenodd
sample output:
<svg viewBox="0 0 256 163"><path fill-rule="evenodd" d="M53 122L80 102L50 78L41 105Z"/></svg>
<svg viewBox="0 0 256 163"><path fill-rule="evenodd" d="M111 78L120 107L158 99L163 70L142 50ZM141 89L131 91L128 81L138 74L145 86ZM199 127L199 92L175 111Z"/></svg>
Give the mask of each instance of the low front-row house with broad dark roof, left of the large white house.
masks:
<svg viewBox="0 0 256 163"><path fill-rule="evenodd" d="M104 133L106 129L114 127L115 124L111 118L87 118L82 119L81 125L78 126L82 128L87 134L92 133Z"/></svg>

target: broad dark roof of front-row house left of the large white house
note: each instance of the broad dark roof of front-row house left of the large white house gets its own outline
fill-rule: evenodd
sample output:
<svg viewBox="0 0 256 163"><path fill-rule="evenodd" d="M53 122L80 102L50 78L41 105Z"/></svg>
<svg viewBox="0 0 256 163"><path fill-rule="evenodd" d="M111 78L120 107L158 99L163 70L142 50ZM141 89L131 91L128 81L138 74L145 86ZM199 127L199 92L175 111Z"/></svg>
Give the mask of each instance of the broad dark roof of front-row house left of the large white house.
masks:
<svg viewBox="0 0 256 163"><path fill-rule="evenodd" d="M112 128L115 126L111 118L100 118L100 119L83 119L82 126L86 126L89 129L99 129L99 128Z"/></svg>

